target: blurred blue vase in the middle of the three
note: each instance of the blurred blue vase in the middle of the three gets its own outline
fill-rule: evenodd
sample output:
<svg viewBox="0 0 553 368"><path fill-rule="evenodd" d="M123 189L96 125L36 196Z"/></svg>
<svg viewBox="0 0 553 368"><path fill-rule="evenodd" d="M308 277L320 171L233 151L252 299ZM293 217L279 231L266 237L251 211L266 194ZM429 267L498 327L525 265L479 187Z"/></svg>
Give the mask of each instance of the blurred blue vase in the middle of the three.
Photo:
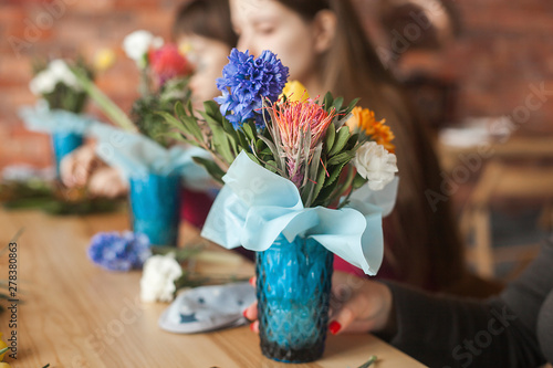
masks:
<svg viewBox="0 0 553 368"><path fill-rule="evenodd" d="M180 219L180 177L150 174L131 178L133 230L154 245L177 245Z"/></svg>

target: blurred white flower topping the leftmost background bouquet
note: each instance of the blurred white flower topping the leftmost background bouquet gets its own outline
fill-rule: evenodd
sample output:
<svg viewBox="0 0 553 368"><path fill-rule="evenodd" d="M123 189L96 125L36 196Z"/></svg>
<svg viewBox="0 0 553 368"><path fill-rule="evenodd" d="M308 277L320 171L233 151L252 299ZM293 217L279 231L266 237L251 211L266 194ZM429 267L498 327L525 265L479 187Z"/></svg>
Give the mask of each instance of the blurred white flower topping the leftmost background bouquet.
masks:
<svg viewBox="0 0 553 368"><path fill-rule="evenodd" d="M48 67L36 74L29 83L29 88L36 95L48 94L54 91L58 83L63 83L66 86L81 91L81 85L67 64L60 59L53 60L48 64Z"/></svg>

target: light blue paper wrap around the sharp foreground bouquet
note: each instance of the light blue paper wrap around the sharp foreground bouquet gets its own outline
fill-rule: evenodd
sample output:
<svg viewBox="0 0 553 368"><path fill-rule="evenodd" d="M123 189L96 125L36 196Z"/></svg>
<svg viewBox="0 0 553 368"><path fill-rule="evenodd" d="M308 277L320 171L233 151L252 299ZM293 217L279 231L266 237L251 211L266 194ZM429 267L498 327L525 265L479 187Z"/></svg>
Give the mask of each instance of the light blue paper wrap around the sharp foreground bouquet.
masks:
<svg viewBox="0 0 553 368"><path fill-rule="evenodd" d="M380 207L361 199L338 210L304 208L292 181L253 162L241 153L223 177L201 235L227 249L257 252L279 234L289 242L313 238L328 251L375 275L383 260ZM363 197L363 196L361 196Z"/></svg>

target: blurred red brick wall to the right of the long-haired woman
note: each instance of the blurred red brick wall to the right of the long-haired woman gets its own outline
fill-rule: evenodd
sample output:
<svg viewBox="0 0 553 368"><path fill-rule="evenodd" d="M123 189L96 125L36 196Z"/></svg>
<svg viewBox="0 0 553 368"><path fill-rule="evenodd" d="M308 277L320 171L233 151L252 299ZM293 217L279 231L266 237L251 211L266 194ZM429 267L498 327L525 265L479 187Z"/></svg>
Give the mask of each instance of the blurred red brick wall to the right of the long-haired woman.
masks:
<svg viewBox="0 0 553 368"><path fill-rule="evenodd" d="M553 134L553 2L446 1L460 13L460 36L439 52L406 53L404 72L420 67L457 81L458 119L514 114L521 134ZM532 108L531 97L525 116L542 84L547 101Z"/></svg>

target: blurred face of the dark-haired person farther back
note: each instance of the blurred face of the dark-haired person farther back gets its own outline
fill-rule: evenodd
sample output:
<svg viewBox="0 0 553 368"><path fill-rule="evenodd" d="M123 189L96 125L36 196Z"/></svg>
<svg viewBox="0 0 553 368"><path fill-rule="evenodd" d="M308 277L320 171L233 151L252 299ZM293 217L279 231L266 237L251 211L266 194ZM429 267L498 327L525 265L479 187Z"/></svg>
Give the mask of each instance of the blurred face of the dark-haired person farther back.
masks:
<svg viewBox="0 0 553 368"><path fill-rule="evenodd" d="M230 49L223 42L196 34L180 36L178 44L179 48L186 49L187 57L194 65L195 72L189 84L192 105L195 108L201 108L205 101L221 94L215 81L222 76L222 67L228 63Z"/></svg>

